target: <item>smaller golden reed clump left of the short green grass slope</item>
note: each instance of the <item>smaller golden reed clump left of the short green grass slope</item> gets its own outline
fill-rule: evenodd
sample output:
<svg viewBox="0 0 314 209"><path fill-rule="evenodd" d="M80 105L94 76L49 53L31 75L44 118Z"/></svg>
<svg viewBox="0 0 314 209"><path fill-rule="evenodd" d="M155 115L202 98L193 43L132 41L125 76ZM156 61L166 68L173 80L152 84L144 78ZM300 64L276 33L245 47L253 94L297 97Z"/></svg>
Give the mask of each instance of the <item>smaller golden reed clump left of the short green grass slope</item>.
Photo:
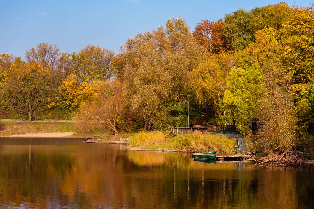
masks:
<svg viewBox="0 0 314 209"><path fill-rule="evenodd" d="M130 137L129 145L131 147L149 146L162 143L166 140L163 132L139 132Z"/></svg>

